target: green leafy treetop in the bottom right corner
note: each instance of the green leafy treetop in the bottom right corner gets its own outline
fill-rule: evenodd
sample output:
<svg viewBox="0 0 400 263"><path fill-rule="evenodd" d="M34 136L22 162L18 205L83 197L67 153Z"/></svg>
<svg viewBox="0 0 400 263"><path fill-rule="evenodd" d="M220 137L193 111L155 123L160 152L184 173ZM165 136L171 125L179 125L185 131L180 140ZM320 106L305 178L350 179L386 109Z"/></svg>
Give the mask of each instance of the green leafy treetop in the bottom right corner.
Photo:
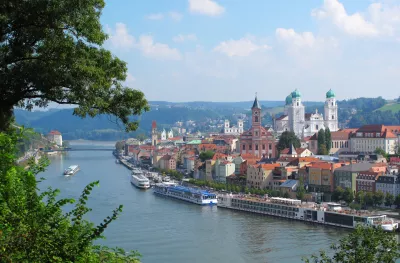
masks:
<svg viewBox="0 0 400 263"><path fill-rule="evenodd" d="M331 246L332 257L325 251L311 258L303 259L307 263L342 263L342 262L396 262L400 258L399 246L394 233L386 233L381 228L365 228L358 225L338 244Z"/></svg>

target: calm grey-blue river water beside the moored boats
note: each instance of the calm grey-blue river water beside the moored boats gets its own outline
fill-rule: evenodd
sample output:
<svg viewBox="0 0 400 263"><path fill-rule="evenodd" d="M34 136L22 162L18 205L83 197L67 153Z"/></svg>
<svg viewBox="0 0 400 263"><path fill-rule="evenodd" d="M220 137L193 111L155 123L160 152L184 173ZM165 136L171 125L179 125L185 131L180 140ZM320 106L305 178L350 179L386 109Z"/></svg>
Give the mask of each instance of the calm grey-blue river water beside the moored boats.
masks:
<svg viewBox="0 0 400 263"><path fill-rule="evenodd" d="M107 147L112 144L72 143L79 147ZM40 189L61 190L60 197L78 199L83 188L99 180L88 206L88 219L95 223L112 214L118 205L123 213L105 231L100 243L126 250L138 250L144 263L301 262L346 235L348 230L308 225L297 221L232 211L215 206L197 206L139 190L129 181L129 171L115 163L110 151L76 151L50 156L51 164L40 176ZM62 175L68 166L81 167L74 176ZM68 209L68 208L67 208Z"/></svg>

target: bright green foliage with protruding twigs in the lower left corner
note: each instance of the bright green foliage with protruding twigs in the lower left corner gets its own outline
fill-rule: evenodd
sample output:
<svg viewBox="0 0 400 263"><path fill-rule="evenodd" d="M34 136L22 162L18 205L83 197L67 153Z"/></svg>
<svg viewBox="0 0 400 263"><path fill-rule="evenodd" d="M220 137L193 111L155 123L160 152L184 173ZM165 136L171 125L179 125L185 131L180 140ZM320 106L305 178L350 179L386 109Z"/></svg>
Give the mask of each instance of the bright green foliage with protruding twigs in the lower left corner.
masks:
<svg viewBox="0 0 400 263"><path fill-rule="evenodd" d="M117 207L103 223L95 226L83 217L91 211L86 206L88 197L98 182L83 189L77 202L59 199L58 190L49 188L37 192L37 178L48 165L48 160L34 160L29 168L15 165L17 143L24 130L0 133L0 259L2 262L137 262L138 254L121 257L120 250L94 247L93 241L114 221L122 206ZM40 179L42 180L42 179ZM62 208L75 203L75 208L64 213ZM119 252L118 252L119 251ZM124 261L121 261L121 260Z"/></svg>

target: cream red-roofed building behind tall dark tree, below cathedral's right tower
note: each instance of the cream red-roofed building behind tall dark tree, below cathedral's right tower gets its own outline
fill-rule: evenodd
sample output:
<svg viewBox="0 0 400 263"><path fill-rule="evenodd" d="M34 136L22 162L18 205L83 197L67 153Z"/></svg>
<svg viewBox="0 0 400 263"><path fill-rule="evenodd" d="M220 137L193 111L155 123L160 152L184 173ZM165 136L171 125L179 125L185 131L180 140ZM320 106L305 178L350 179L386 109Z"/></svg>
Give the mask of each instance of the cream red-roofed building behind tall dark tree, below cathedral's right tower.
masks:
<svg viewBox="0 0 400 263"><path fill-rule="evenodd" d="M341 152L348 152L350 133L344 131L331 132L331 149L329 155L339 155ZM314 154L318 154L318 132L311 136L309 140L309 149Z"/></svg>

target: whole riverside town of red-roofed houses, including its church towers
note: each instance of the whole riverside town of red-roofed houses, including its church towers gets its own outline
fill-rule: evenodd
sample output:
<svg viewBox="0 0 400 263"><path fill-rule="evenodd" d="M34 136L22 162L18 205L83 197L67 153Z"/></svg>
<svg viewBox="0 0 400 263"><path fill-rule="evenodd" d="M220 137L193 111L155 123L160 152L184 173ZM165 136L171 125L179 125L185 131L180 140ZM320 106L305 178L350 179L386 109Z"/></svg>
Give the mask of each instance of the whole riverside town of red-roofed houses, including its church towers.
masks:
<svg viewBox="0 0 400 263"><path fill-rule="evenodd" d="M336 191L354 194L400 194L399 126L382 124L339 129L335 93L326 93L324 114L307 114L298 90L285 101L284 115L273 127L262 123L264 112L257 95L245 124L226 120L219 133L189 133L153 121L150 139L125 140L124 155L131 162L163 171L177 171L188 178L236 185L241 189L270 189L296 198L306 190L307 200L334 199ZM187 121L188 125L195 125ZM175 126L183 127L185 122ZM245 128L247 127L247 128ZM168 128L168 129L167 129ZM321 130L330 131L326 155L319 153ZM284 132L293 132L300 147L293 144L278 151Z"/></svg>

